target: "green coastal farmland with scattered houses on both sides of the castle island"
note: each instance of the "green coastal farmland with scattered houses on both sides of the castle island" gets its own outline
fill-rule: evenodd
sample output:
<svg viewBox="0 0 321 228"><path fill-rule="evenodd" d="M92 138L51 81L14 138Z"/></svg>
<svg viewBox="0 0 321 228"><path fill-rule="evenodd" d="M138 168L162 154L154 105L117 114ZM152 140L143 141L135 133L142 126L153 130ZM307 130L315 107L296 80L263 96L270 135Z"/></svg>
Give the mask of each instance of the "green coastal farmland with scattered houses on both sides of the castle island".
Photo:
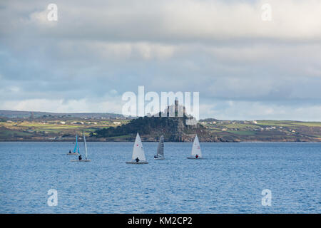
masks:
<svg viewBox="0 0 321 228"><path fill-rule="evenodd" d="M132 135L97 139L89 136L95 130L117 127L130 120L96 120L61 118L10 119L0 118L0 140L74 140L76 133L84 131L88 140L126 140ZM229 121L201 123L223 140L237 141L321 141L320 122L300 122L290 120Z"/></svg>

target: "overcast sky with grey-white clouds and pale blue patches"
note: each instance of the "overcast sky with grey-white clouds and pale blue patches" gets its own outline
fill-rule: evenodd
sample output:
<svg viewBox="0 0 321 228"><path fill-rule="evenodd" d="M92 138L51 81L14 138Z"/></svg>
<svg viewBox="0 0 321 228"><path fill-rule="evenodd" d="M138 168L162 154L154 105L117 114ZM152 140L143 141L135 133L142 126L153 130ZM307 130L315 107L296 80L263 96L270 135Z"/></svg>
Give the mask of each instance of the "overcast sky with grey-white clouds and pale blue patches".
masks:
<svg viewBox="0 0 321 228"><path fill-rule="evenodd" d="M0 109L121 113L138 86L199 92L200 118L321 121L321 1L0 2Z"/></svg>

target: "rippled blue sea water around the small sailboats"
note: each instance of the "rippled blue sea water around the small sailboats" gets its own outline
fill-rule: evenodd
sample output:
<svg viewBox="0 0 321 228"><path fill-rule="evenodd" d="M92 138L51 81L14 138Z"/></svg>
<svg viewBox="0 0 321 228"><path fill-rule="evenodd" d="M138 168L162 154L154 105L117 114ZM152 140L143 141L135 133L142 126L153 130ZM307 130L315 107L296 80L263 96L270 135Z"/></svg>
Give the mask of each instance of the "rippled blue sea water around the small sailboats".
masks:
<svg viewBox="0 0 321 228"><path fill-rule="evenodd" d="M0 212L321 212L321 143L200 143L204 160L186 159L187 142L165 142L166 160L153 160L156 142L143 146L148 165L125 163L132 142L88 142L91 162L70 162L71 142L0 142Z"/></svg>

